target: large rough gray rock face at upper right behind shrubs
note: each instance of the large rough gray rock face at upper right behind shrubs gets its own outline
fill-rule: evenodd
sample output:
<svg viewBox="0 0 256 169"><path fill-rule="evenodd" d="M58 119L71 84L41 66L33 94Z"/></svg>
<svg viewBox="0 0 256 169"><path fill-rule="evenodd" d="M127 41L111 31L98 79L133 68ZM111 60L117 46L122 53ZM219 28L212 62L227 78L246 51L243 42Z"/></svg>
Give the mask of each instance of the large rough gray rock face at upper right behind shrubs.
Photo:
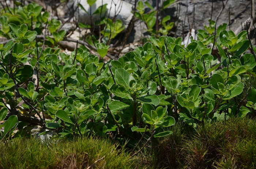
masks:
<svg viewBox="0 0 256 169"><path fill-rule="evenodd" d="M217 16L217 27L223 23L229 24L229 6L230 29L236 31L241 27L241 23L246 22L251 16L251 0L178 0L170 8L166 8L165 13L168 14L170 9L174 10L171 18L178 23L178 26L176 24L176 36L184 37L189 31L189 25L190 28L194 28L195 30L204 29L204 25L209 25L208 20L216 20ZM212 7L213 10L211 10ZM179 8L180 12L177 14ZM178 16L177 18L176 15ZM193 20L195 21L194 24L192 24ZM229 25L227 29L229 29Z"/></svg>

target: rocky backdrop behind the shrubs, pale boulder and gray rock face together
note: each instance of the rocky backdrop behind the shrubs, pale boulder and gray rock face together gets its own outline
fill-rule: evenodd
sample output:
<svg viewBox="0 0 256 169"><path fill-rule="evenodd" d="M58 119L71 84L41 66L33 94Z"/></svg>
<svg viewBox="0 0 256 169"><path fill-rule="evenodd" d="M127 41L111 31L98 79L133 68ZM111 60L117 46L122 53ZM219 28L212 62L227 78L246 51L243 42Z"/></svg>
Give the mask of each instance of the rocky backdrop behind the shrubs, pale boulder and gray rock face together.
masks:
<svg viewBox="0 0 256 169"><path fill-rule="evenodd" d="M79 0L69 0L69 4L75 2L75 8L78 1ZM118 13L116 19L121 19L125 28L127 28L132 20L132 10L135 0L97 0L91 8L86 0L82 0L80 3L88 14L90 14L90 11L93 13L102 5L102 1L103 4L108 4L108 12L104 15L108 16L107 14L109 13L110 18L113 18L114 15ZM147 0L142 1L145 2ZM158 0L160 8L163 1L164 0ZM148 0L148 3L156 9L156 0ZM114 4L116 4L116 6ZM174 37L184 38L191 28L195 29L195 32L197 32L198 29L203 29L204 25L209 24L209 19L216 20L217 16L217 27L223 23L227 23L227 29L229 29L230 21L230 29L238 33L244 30L244 23L251 17L251 6L251 0L176 0L168 8L159 13L159 19L166 15L171 16L171 21L175 22L175 26L169 35ZM150 9L145 6L145 11L148 12ZM90 16L81 8L79 8L78 14L79 22L91 23ZM253 16L255 16L255 14ZM93 15L92 23L94 24L98 19L99 15ZM147 35L146 25L141 20L136 19L128 41L140 42L142 38Z"/></svg>

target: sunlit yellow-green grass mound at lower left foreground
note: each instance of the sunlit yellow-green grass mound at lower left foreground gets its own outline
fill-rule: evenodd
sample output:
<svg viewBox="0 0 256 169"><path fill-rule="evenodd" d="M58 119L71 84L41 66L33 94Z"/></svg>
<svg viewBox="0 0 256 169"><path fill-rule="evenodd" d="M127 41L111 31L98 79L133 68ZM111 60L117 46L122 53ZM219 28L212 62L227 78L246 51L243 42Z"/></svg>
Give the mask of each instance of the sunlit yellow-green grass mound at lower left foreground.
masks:
<svg viewBox="0 0 256 169"><path fill-rule="evenodd" d="M93 168L131 168L129 155L117 151L109 140L79 138L42 144L33 138L22 138L1 142L0 149L0 168L3 169L83 169L102 157Z"/></svg>

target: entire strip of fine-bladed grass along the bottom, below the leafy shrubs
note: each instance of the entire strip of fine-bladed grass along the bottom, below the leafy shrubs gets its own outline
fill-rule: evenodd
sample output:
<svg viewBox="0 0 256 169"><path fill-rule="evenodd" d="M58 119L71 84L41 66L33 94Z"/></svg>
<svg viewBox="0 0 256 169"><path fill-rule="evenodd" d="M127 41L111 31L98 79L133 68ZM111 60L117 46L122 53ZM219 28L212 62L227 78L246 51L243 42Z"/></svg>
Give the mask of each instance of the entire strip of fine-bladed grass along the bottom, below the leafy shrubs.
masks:
<svg viewBox="0 0 256 169"><path fill-rule="evenodd" d="M42 144L33 138L20 138L0 142L0 168L82 169L102 157L92 168L256 168L255 118L212 122L205 125L205 134L202 126L195 130L182 122L169 129L172 135L153 139L131 159L129 149L117 150L109 139L75 138Z"/></svg>

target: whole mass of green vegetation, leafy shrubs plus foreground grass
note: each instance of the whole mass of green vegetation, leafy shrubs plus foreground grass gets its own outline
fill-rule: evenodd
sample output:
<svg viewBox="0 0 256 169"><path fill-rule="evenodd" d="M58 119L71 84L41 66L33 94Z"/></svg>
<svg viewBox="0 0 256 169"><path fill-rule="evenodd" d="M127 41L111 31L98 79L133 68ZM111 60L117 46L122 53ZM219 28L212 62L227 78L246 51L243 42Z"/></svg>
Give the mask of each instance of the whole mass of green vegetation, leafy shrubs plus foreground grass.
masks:
<svg viewBox="0 0 256 169"><path fill-rule="evenodd" d="M253 168L256 48L248 29L235 35L227 24L216 27L209 20L205 30L197 30L197 40L184 43L167 36L174 26L170 16L154 29L158 12L145 3L151 11L144 14L139 1L134 14L151 36L106 61L105 56L113 58L112 40L124 29L121 20L102 17L96 25L100 33L76 41L38 4L16 5L0 11L0 36L7 39L0 43L0 168L20 161L23 153L31 158L13 168ZM62 41L77 47L66 53ZM33 125L48 129L39 135L55 131L53 142L29 138ZM70 143L74 146L63 153ZM29 163L45 153L49 163ZM143 159L144 166L131 159Z"/></svg>

